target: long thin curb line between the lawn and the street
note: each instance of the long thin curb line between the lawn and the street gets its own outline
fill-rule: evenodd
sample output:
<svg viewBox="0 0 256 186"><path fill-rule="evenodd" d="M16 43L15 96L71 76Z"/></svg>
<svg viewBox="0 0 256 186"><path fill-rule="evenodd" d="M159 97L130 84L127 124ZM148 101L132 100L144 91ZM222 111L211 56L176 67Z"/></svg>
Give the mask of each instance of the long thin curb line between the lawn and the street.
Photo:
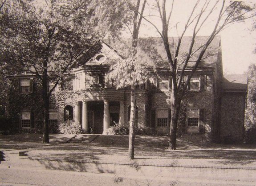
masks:
<svg viewBox="0 0 256 186"><path fill-rule="evenodd" d="M110 165L129 165L130 167L145 166L145 167L182 167L182 168L206 168L206 169L236 169L236 170L256 170L256 167L238 167L238 166L199 166L199 165L175 165L175 164L153 164L153 163L118 163L107 161L86 161L86 160L67 160L67 159L50 159L50 158L25 158L20 159L40 160L40 161L54 161L54 162L68 162L68 163L94 163L94 164L110 164Z"/></svg>

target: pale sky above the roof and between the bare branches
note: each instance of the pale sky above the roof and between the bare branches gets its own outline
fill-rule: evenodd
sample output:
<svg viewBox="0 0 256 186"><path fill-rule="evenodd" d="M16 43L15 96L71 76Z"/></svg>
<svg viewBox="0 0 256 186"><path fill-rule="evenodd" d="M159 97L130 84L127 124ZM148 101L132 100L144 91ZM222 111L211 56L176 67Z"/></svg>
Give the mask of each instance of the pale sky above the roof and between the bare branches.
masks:
<svg viewBox="0 0 256 186"><path fill-rule="evenodd" d="M153 3L153 1L154 0L148 0L149 4ZM251 0L250 2L256 3L256 0ZM215 3L215 0L212 0L211 3ZM184 27L184 23L187 20L194 4L195 0L175 1L171 23L175 23L174 25L176 25L176 23L179 22L179 24L178 29L170 29L169 36L177 36L177 33L180 35ZM167 4L167 12L170 9L171 4ZM147 16L147 19L155 23L155 25L161 31L161 21L158 17L154 16L158 15L156 11L149 11L149 9L145 9L144 15L151 15ZM215 12L209 17L209 21L205 24L205 26L202 28L202 31L200 31L198 35L210 35L214 26L213 20L215 20L218 15L219 7L217 7ZM256 48L256 30L252 31L253 22L255 20L256 18L251 18L244 22L234 23L219 34L221 36L224 74L245 74L248 70L248 66L252 63L256 63L256 54L253 53L254 49ZM128 36L130 33L125 31L125 35ZM185 35L191 36L192 31L188 30ZM150 25L150 23L143 21L139 32L139 37L149 36L159 37L159 34L157 33L156 29Z"/></svg>

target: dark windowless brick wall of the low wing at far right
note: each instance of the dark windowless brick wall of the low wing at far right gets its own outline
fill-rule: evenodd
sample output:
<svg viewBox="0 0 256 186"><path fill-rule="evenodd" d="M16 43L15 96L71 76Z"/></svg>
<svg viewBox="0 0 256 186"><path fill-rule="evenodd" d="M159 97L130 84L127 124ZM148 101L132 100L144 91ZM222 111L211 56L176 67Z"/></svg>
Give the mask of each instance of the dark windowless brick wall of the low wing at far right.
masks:
<svg viewBox="0 0 256 186"><path fill-rule="evenodd" d="M243 142L244 105L244 93L223 93L221 98L221 143Z"/></svg>

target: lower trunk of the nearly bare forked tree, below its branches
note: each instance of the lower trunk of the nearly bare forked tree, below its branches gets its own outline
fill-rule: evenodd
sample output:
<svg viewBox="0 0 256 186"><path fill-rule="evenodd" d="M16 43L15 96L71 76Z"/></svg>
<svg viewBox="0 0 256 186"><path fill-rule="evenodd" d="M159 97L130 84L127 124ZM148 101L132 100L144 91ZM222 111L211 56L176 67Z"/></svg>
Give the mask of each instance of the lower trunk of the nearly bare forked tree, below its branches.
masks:
<svg viewBox="0 0 256 186"><path fill-rule="evenodd" d="M177 100L174 91L171 93L171 127L170 127L170 140L169 149L176 149L176 133L179 119L180 101Z"/></svg>

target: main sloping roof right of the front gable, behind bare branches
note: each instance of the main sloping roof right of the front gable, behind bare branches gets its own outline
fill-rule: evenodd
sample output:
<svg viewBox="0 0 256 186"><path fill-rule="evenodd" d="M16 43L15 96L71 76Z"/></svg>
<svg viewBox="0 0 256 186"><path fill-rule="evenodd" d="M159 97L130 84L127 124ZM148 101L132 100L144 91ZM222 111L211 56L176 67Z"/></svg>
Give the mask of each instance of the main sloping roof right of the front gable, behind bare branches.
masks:
<svg viewBox="0 0 256 186"><path fill-rule="evenodd" d="M176 50L178 39L179 39L178 37L169 38L169 45L170 45L172 54L174 54L174 51ZM182 57L185 54L187 54L190 43L191 43L191 39L192 37L183 37L182 43L179 49L179 58L178 58L179 62L183 61ZM208 36L197 36L195 38L195 43L194 43L192 52L197 50L199 46L202 46L207 39L208 39ZM124 45L131 46L131 43L132 43L131 39L126 39L125 41L120 41L118 39L106 39L104 41L117 50L122 48ZM157 68L169 67L167 63L167 54L166 54L166 51L164 50L162 38L152 38L152 37L140 38L139 44L138 44L138 50L144 53L151 53L152 55L154 54L155 56L158 56L155 60L156 62L154 62ZM207 58L204 59L203 57L202 62L198 66L198 69L207 69L207 68L214 69L217 63L218 54L220 52L221 52L220 36L215 36L215 39L213 39L211 44L208 46L206 53L204 54L204 57L207 56ZM195 53L194 58L192 58L192 60L195 60L198 54L199 54L199 51ZM193 67L194 64L195 62L189 62L187 65L187 69Z"/></svg>

